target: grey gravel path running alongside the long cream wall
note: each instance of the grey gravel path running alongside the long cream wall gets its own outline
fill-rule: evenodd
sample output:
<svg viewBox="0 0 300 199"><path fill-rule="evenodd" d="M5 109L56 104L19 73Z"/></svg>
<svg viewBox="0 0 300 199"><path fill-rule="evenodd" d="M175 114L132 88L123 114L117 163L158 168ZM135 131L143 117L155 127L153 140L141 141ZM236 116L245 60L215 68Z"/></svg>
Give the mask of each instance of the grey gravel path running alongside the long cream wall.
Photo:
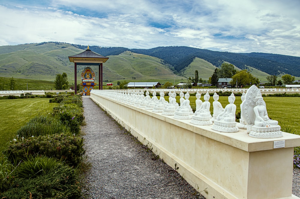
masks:
<svg viewBox="0 0 300 199"><path fill-rule="evenodd" d="M87 123L82 131L92 165L87 174L88 198L205 199L89 97L82 100ZM294 169L292 193L300 197L299 173Z"/></svg>

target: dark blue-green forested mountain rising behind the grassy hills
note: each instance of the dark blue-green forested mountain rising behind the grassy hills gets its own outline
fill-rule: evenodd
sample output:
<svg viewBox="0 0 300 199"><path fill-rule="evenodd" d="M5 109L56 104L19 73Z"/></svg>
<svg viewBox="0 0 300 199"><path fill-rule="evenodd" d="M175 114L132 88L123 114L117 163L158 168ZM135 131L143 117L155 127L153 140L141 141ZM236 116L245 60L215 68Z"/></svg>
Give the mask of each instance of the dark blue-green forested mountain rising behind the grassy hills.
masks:
<svg viewBox="0 0 300 199"><path fill-rule="evenodd" d="M74 45L80 49L86 49L84 45ZM124 51L132 51L139 54L146 54L158 57L166 65L171 65L177 72L190 65L195 57L204 59L216 67L229 62L239 69L248 69L248 66L266 72L270 75L290 74L300 76L300 57L268 54L268 53L231 53L211 51L187 46L168 46L150 49L129 49L124 47L100 47L90 46L92 51L103 56L118 55Z"/></svg>

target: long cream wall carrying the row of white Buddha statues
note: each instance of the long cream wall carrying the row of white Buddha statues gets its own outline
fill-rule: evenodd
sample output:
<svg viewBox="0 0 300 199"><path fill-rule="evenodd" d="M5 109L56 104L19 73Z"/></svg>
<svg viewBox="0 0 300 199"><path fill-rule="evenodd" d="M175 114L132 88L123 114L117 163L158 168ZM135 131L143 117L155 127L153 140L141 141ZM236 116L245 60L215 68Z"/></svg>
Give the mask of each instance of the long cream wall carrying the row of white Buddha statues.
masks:
<svg viewBox="0 0 300 199"><path fill-rule="evenodd" d="M222 133L211 125L173 119L106 97L93 90L91 99L144 145L153 147L172 168L207 199L298 198L292 195L293 147L300 136L283 133L282 138L257 139L246 130ZM284 148L273 148L285 140ZM298 198L299 199L299 198Z"/></svg>

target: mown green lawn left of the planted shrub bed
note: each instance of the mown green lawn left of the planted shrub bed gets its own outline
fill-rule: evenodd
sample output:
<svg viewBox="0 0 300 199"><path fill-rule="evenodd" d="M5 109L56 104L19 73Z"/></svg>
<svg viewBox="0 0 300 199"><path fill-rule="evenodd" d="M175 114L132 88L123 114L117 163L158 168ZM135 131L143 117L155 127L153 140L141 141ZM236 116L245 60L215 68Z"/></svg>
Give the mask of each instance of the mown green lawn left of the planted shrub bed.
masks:
<svg viewBox="0 0 300 199"><path fill-rule="evenodd" d="M0 151L16 136L16 131L39 113L50 113L57 103L49 103L49 98L0 100Z"/></svg>

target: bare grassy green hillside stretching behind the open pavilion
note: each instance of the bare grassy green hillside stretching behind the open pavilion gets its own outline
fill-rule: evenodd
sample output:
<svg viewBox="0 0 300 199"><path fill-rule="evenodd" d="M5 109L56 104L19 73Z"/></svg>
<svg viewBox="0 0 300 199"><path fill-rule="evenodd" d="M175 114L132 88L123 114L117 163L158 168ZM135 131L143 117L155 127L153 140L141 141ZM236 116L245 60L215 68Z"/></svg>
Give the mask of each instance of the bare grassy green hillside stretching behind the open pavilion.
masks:
<svg viewBox="0 0 300 199"><path fill-rule="evenodd" d="M69 82L74 82L74 64L68 56L81 53L83 50L72 45L59 42L43 42L41 44L24 44L17 46L1 46L0 76L35 80L54 81L55 75L67 73ZM161 83L173 82L173 71L161 63L161 59L149 55L125 51L119 55L108 56L103 64L103 79L147 81L157 80ZM85 66L77 66L77 83ZM99 67L91 66L98 76ZM176 82L182 77L175 75ZM96 82L98 84L98 78Z"/></svg>

